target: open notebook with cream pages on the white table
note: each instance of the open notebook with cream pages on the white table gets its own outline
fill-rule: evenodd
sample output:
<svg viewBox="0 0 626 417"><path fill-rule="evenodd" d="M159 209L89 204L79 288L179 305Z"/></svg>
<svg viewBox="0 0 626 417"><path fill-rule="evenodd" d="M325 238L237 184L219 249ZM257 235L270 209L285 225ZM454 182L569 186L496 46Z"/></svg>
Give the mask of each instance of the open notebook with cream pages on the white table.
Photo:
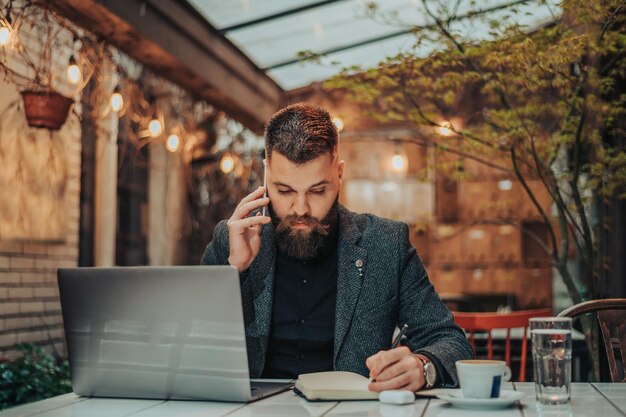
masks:
<svg viewBox="0 0 626 417"><path fill-rule="evenodd" d="M345 371L314 372L298 376L294 391L309 401L377 400L367 389L370 380Z"/></svg>

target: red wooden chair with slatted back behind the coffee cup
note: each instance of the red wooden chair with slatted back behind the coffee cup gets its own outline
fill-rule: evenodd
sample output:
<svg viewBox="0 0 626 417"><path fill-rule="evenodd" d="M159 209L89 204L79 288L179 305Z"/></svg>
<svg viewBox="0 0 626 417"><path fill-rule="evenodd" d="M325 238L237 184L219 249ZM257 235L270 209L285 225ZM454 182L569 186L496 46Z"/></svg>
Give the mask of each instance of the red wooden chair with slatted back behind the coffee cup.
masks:
<svg viewBox="0 0 626 417"><path fill-rule="evenodd" d="M493 359L493 336L492 330L506 329L506 339L504 344L504 360L511 366L511 329L521 328L522 330L522 351L520 358L519 382L526 380L526 354L527 354L527 329L528 320L533 317L552 316L552 309L542 308L538 310L514 311L511 313L465 313L453 311L454 321L469 336L472 349L476 354L475 333L487 332L487 359Z"/></svg>

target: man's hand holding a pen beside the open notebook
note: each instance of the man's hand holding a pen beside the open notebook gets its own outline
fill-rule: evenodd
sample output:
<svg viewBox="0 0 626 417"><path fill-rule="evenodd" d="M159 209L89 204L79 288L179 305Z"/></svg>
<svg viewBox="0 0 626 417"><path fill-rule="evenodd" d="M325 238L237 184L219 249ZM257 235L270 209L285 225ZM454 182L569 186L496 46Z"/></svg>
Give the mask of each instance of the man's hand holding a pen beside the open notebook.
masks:
<svg viewBox="0 0 626 417"><path fill-rule="evenodd" d="M417 391L424 386L424 365L406 346L381 350L365 361L370 370L370 391L402 389Z"/></svg>

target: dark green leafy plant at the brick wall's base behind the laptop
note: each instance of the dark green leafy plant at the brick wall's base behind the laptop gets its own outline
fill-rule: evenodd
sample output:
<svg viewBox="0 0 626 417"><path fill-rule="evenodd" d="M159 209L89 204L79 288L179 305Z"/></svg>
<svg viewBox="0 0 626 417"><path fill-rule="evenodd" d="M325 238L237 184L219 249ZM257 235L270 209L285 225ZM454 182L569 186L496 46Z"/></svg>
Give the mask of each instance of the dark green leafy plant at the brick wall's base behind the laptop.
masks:
<svg viewBox="0 0 626 417"><path fill-rule="evenodd" d="M72 390L66 359L32 343L19 343L16 349L20 358L0 363L0 410Z"/></svg>

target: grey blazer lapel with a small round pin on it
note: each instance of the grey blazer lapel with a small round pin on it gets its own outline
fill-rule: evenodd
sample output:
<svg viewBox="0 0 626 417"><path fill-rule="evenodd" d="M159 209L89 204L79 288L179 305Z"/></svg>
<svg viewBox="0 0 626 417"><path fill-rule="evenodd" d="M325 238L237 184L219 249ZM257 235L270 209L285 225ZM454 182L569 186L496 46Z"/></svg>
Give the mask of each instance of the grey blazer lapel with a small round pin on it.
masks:
<svg viewBox="0 0 626 417"><path fill-rule="evenodd" d="M343 206L339 207L338 265L337 265L337 305L335 308L334 362L337 361L352 316L359 299L363 274L367 265L367 251L357 243L361 232L351 222L352 214Z"/></svg>

